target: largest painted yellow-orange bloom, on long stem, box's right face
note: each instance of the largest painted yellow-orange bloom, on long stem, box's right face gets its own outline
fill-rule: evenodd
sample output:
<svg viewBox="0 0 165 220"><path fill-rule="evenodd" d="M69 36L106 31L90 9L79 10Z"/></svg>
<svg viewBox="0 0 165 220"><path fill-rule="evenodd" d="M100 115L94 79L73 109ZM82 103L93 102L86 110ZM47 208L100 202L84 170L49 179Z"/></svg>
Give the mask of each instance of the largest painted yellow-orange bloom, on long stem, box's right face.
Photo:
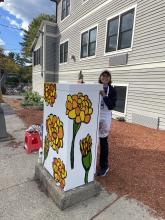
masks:
<svg viewBox="0 0 165 220"><path fill-rule="evenodd" d="M82 93L68 95L66 101L66 115L75 120L77 124L88 124L93 113L92 103L87 95Z"/></svg>

